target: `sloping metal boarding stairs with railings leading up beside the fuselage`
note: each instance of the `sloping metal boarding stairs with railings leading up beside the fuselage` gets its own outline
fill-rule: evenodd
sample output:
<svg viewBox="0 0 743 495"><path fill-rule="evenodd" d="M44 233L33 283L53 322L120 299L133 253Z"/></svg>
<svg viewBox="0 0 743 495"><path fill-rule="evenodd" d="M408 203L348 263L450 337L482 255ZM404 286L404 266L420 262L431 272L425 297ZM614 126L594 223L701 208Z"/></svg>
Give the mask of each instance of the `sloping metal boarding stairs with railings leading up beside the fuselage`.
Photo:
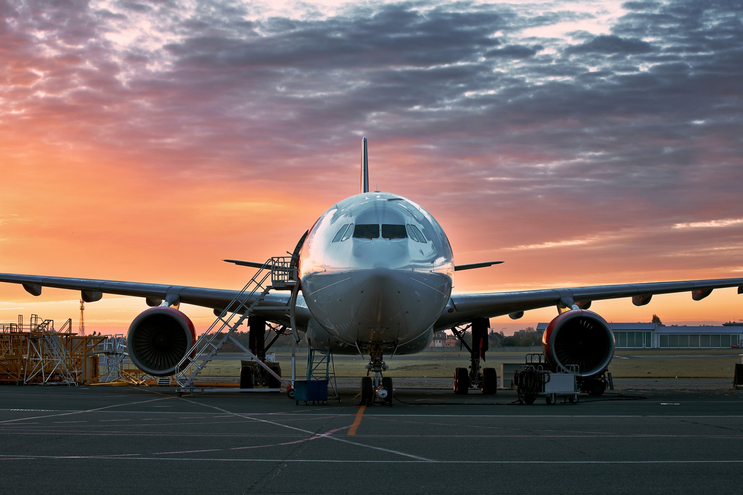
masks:
<svg viewBox="0 0 743 495"><path fill-rule="evenodd" d="M286 380L276 375L263 361L253 355L250 350L247 350L233 336L233 332L248 318L253 309L259 306L268 292L273 289L288 290L296 287L296 269L293 268L291 260L292 258L288 256L268 258L263 266L256 271L253 278L245 284L230 304L227 304L227 307L217 316L214 323L199 336L195 344L175 367L173 378L178 384L179 395L186 390L193 392L195 378L219 352L222 344L227 339L233 341L244 353L250 355L267 373L273 375L282 384L288 385ZM270 283L268 283L269 281ZM296 292L296 290L293 292ZM254 297L256 294L257 297Z"/></svg>

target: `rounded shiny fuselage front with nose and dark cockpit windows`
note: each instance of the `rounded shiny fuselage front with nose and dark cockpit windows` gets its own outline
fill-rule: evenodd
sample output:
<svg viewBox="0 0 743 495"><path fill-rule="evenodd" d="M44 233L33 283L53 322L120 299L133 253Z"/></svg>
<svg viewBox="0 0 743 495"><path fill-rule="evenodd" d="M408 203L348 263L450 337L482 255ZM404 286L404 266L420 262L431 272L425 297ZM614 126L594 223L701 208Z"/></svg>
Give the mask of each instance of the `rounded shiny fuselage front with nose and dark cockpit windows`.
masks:
<svg viewBox="0 0 743 495"><path fill-rule="evenodd" d="M354 350L420 339L452 291L454 261L443 229L395 194L357 194L328 209L299 259L302 295L321 327L314 330Z"/></svg>

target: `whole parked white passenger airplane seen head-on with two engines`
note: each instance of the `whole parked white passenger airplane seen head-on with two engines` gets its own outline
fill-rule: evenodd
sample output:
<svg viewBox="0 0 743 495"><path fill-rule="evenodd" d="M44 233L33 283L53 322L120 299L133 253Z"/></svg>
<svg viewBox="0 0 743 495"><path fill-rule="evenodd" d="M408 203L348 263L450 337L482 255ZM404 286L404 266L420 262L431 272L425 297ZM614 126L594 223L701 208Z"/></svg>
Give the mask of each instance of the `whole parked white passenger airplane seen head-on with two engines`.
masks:
<svg viewBox="0 0 743 495"><path fill-rule="evenodd" d="M384 355L419 353L432 342L434 332L461 335L457 329L466 326L472 335L470 368L455 370L454 392L496 393L496 370L481 367L489 318L518 319L525 311L548 306L557 306L558 315L542 335L546 364L577 367L583 390L600 394L605 381L595 378L603 376L614 357L614 335L609 324L588 309L592 301L632 298L633 304L643 306L656 294L691 292L699 301L713 289L738 287L743 293L743 278L723 278L452 294L455 272L502 261L456 265L449 239L432 214L398 194L369 191L366 137L361 155L359 194L320 215L295 250L301 294L296 295L294 325L313 348L369 356L366 368L373 376L367 373L361 379L362 403L392 405L392 377L385 376L389 367ZM228 289L87 278L0 274L0 281L21 283L36 296L42 287L80 290L86 302L98 301L103 294L145 298L152 307L134 318L127 342L134 364L152 376L172 376L192 350L195 327L180 311L181 303L209 307L220 315L239 296L239 291ZM291 324L291 296L286 292L268 293L260 303L250 315L251 334L255 331L262 339L266 322Z"/></svg>

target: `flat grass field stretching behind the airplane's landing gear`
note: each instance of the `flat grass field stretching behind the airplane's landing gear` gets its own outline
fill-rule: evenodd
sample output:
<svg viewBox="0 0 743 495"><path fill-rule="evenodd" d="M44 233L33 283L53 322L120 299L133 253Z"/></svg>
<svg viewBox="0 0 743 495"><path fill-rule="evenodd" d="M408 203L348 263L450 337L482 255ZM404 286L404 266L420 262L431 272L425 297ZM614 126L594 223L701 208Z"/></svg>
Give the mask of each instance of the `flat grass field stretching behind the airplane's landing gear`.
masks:
<svg viewBox="0 0 743 495"><path fill-rule="evenodd" d="M719 355L714 358L617 358L615 357L609 365L609 370L614 378L733 378L733 369L736 363L741 362L741 350L622 350L617 356L635 355ZM405 359L404 356L387 360L389 365L389 376L400 378L450 378L454 375L456 367L467 367L467 361L451 359L455 356L464 356L467 353L426 353L430 359ZM418 356L424 356L420 354ZM447 359L450 358L450 359ZM495 367L500 373L502 362L521 362L524 353L493 352L487 353L486 366ZM290 376L291 361L288 355L278 355L282 367L282 374ZM305 375L306 358L304 356L296 359L296 374L301 377ZM354 361L335 361L335 373L340 378L357 378L366 376L365 363L361 358ZM239 376L239 360L212 361L202 372L202 376Z"/></svg>

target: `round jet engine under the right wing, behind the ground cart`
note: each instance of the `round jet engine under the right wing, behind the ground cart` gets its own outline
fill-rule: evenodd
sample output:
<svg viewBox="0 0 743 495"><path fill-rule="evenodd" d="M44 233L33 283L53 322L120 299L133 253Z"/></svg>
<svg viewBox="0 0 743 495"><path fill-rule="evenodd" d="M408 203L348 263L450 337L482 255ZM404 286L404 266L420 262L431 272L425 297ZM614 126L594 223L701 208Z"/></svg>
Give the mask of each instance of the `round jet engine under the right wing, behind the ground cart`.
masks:
<svg viewBox="0 0 743 495"><path fill-rule="evenodd" d="M614 333L593 311L571 309L548 324L542 335L542 350L554 367L577 364L578 376L594 376L614 357Z"/></svg>

